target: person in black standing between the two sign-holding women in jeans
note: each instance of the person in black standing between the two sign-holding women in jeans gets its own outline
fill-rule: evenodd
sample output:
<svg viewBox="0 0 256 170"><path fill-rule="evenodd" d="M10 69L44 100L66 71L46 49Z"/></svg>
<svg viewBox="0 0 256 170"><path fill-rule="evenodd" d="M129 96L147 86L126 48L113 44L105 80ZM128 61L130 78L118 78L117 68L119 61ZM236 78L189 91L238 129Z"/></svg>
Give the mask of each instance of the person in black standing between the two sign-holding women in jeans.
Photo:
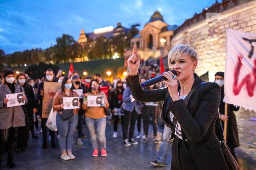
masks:
<svg viewBox="0 0 256 170"><path fill-rule="evenodd" d="M72 82L73 82L73 91L76 92L79 95L80 98L80 104L82 105L84 94L85 94L85 88L81 86L81 79L78 75L74 75L72 77ZM83 145L82 142L82 137L85 138L85 135L83 133L83 117L84 117L84 110L82 108L79 109L78 111L78 139L77 139L77 144L78 145Z"/></svg>

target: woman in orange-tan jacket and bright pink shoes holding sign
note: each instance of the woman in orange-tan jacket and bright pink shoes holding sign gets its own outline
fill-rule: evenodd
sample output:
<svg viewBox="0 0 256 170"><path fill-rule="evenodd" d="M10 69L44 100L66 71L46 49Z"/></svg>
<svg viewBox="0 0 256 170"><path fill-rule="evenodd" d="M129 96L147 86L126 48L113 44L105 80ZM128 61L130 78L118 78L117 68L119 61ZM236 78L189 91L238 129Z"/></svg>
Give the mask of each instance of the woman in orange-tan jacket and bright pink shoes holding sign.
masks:
<svg viewBox="0 0 256 170"><path fill-rule="evenodd" d="M101 149L101 156L107 156L105 135L106 114L104 108L108 108L109 103L105 93L101 92L99 87L98 80L92 80L90 82L88 94L82 105L82 108L86 110L86 125L90 131L92 148L94 149L92 156L95 157L98 156L99 148Z"/></svg>

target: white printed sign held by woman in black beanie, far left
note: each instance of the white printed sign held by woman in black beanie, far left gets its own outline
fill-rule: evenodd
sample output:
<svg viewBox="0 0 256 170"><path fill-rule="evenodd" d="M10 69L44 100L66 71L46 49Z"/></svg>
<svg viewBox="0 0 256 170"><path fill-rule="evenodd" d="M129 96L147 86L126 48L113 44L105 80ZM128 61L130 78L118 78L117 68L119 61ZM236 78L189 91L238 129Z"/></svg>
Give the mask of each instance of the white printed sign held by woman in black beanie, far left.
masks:
<svg viewBox="0 0 256 170"><path fill-rule="evenodd" d="M25 104L25 100L23 99L24 93L14 93L14 94L6 94L6 98L8 99L7 107L14 106L22 106Z"/></svg>

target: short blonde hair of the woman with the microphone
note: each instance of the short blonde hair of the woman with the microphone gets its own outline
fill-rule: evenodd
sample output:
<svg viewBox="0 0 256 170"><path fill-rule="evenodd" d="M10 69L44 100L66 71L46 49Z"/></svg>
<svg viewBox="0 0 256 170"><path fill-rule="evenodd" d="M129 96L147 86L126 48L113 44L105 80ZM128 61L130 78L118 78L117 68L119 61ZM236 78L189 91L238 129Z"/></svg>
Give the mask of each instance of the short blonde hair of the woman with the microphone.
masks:
<svg viewBox="0 0 256 170"><path fill-rule="evenodd" d="M189 55L194 61L198 62L198 54L189 45L179 44L173 47L168 54L168 66L171 68L172 61L177 61L182 55Z"/></svg>

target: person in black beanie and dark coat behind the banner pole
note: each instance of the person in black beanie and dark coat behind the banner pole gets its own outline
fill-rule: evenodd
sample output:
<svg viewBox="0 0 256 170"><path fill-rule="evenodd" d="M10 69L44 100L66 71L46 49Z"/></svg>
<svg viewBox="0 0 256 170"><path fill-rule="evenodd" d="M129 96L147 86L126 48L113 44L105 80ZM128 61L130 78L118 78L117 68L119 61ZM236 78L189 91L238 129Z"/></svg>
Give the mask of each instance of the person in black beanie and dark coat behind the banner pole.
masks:
<svg viewBox="0 0 256 170"><path fill-rule="evenodd" d="M225 116L225 102L223 102L224 72L216 72L215 82L220 86L221 98L220 98L219 111L220 111L220 119L221 119L223 129L224 129L224 121L228 121L226 144L228 145L230 152L232 153L232 155L237 161L235 148L239 147L239 139L238 139L236 115L234 114L234 111L238 111L240 107L234 106L232 104L228 104L228 115Z"/></svg>

